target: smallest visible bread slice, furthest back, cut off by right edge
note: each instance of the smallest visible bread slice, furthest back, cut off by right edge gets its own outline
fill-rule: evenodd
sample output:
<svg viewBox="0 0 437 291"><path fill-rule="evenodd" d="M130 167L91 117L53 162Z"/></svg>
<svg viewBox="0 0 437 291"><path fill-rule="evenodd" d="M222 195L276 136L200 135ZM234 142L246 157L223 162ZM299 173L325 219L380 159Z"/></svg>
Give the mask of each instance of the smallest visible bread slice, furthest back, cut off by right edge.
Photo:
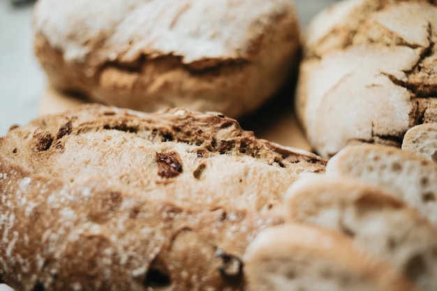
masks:
<svg viewBox="0 0 437 291"><path fill-rule="evenodd" d="M402 149L437 163L437 123L410 128L403 136Z"/></svg>

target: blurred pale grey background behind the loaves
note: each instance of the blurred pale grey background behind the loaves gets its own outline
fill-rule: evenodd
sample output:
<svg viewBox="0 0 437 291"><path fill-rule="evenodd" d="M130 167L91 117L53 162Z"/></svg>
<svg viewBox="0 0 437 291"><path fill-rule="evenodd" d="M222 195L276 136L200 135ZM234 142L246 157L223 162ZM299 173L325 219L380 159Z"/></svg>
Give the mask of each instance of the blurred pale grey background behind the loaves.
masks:
<svg viewBox="0 0 437 291"><path fill-rule="evenodd" d="M336 0L295 0L301 27ZM34 1L0 0L0 136L38 117L46 79L33 52Z"/></svg>

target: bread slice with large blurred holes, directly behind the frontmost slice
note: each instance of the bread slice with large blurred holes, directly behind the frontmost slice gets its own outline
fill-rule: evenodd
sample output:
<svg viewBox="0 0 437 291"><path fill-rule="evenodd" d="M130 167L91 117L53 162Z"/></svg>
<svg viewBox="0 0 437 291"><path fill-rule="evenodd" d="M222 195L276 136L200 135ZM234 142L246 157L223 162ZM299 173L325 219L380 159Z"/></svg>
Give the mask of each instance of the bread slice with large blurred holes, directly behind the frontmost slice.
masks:
<svg viewBox="0 0 437 291"><path fill-rule="evenodd" d="M351 237L420 290L437 286L437 230L407 204L351 177L313 175L286 195L287 219Z"/></svg>

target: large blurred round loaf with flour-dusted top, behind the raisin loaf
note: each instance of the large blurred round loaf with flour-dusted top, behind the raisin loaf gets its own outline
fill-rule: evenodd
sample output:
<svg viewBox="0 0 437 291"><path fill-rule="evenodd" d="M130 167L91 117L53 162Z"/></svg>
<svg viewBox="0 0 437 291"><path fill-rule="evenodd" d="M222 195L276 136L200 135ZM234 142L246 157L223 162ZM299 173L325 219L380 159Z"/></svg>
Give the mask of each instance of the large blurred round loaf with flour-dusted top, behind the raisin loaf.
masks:
<svg viewBox="0 0 437 291"><path fill-rule="evenodd" d="M55 88L136 110L241 116L297 69L289 0L40 0L34 26Z"/></svg>

